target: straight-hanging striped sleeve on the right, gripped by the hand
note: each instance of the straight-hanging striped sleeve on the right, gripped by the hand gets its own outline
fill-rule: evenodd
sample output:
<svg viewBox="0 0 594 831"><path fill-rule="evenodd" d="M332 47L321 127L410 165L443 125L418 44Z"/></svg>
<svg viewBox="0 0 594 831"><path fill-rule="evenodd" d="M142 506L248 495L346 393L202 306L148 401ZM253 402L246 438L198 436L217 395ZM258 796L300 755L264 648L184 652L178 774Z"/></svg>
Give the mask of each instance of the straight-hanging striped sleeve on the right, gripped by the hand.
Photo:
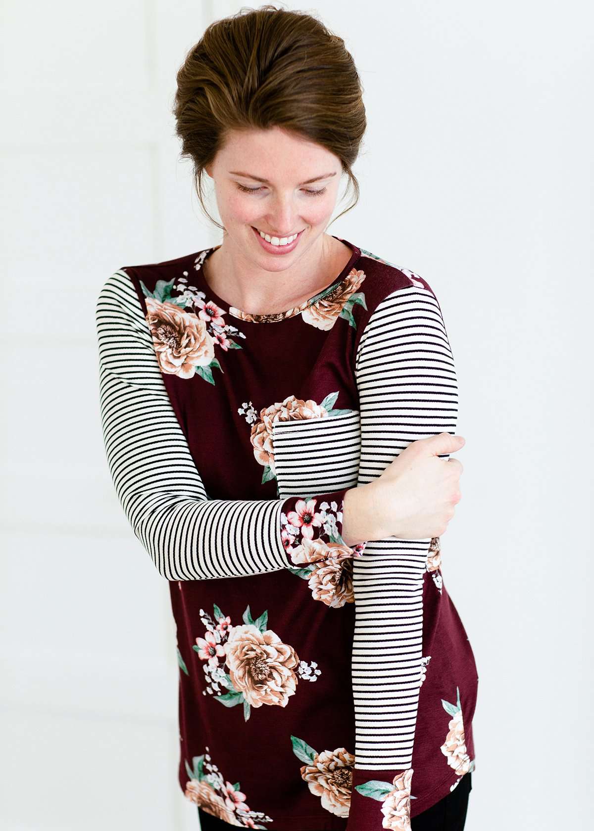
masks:
<svg viewBox="0 0 594 831"><path fill-rule="evenodd" d="M359 342L359 484L381 475L412 441L456 429L452 350L437 298L427 283L418 283L385 297ZM431 538L369 541L354 559L356 740L349 831L382 829L381 801L369 798L366 782L402 788L412 777L430 543Z"/></svg>

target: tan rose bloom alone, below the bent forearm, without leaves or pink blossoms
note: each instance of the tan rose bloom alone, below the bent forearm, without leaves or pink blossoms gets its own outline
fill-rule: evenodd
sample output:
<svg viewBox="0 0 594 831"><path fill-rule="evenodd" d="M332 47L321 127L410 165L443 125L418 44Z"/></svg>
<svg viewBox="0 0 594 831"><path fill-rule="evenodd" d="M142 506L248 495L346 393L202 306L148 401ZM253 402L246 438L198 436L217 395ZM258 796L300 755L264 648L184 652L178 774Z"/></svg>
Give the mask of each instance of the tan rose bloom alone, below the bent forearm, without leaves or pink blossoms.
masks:
<svg viewBox="0 0 594 831"><path fill-rule="evenodd" d="M231 682L251 706L285 707L295 695L298 679L293 667L299 666L299 657L272 629L260 632L253 623L235 626L225 648Z"/></svg>

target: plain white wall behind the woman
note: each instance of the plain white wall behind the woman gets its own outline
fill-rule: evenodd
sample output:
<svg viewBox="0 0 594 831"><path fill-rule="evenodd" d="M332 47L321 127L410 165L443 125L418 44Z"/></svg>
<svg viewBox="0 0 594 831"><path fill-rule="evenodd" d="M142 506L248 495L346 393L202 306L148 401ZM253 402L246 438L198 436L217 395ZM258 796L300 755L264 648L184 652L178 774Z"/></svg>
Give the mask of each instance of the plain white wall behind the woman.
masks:
<svg viewBox="0 0 594 831"><path fill-rule="evenodd" d="M480 677L467 829L585 829L591 5L285 6L344 37L364 84L361 199L329 231L428 280L456 360L463 499L442 549ZM2 0L7 831L198 829L167 583L106 465L94 309L116 268L220 241L170 111L186 50L240 7Z"/></svg>

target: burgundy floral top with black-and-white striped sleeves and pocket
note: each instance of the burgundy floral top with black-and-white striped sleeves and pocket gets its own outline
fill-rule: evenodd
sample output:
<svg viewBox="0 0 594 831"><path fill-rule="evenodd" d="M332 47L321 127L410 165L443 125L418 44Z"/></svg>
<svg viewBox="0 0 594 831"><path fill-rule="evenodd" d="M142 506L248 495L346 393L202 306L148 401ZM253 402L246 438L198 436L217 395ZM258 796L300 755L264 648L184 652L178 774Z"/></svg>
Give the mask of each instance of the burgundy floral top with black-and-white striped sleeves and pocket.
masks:
<svg viewBox="0 0 594 831"><path fill-rule="evenodd" d="M455 433L453 354L428 283L342 242L280 314L210 291L215 248L120 268L97 301L107 460L169 581L203 829L406 831L474 767L440 539L342 538L348 489Z"/></svg>

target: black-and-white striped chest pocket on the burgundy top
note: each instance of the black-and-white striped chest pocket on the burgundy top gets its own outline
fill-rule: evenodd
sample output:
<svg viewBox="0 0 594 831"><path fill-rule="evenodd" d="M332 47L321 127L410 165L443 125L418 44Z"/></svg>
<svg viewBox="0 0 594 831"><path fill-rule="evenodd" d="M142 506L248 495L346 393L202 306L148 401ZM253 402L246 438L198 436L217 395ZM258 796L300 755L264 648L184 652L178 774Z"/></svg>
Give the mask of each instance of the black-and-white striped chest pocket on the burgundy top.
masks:
<svg viewBox="0 0 594 831"><path fill-rule="evenodd" d="M339 416L275 421L275 472L279 496L314 496L354 488L359 478L359 410Z"/></svg>

